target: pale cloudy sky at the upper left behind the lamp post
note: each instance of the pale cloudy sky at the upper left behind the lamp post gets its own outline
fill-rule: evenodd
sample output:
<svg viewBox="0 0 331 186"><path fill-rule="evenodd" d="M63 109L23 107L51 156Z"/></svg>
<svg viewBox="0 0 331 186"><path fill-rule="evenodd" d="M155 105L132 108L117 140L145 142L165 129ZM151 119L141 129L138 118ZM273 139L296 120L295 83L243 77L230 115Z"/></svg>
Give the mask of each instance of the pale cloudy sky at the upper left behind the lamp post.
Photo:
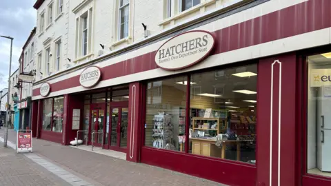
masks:
<svg viewBox="0 0 331 186"><path fill-rule="evenodd" d="M19 68L19 56L24 43L37 22L36 0L0 0L0 35L14 38L12 70ZM8 87L10 39L0 37L0 90Z"/></svg>

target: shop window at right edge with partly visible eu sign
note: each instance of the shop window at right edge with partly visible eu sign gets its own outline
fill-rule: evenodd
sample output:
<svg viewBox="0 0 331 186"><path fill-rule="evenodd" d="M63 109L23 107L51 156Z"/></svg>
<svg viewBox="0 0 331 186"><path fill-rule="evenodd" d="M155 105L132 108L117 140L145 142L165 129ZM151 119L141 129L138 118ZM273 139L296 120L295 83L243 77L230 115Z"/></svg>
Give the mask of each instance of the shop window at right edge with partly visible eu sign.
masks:
<svg viewBox="0 0 331 186"><path fill-rule="evenodd" d="M331 177L331 52L307 61L307 172Z"/></svg>

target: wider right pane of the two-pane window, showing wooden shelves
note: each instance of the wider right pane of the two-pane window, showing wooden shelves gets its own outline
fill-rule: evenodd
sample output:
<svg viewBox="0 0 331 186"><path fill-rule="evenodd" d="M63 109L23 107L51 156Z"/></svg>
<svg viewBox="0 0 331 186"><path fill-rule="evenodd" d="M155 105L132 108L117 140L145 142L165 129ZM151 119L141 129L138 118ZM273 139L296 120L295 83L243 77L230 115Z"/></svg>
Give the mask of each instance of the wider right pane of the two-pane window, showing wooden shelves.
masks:
<svg viewBox="0 0 331 186"><path fill-rule="evenodd" d="M192 154L255 163L257 65L191 76Z"/></svg>

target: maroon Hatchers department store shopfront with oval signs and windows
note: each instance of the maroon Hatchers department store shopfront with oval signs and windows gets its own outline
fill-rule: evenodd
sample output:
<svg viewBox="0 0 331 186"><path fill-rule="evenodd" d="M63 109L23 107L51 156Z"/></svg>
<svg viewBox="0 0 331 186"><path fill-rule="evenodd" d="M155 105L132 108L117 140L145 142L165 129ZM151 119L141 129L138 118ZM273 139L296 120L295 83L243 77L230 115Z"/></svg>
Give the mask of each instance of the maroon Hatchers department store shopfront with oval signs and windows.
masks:
<svg viewBox="0 0 331 186"><path fill-rule="evenodd" d="M98 59L92 86L80 82L88 66L48 79L46 96L34 85L32 129L63 145L86 130L88 143L128 161L228 185L330 185L319 123L328 122L330 10L305 1L219 30L179 30L111 65Z"/></svg>

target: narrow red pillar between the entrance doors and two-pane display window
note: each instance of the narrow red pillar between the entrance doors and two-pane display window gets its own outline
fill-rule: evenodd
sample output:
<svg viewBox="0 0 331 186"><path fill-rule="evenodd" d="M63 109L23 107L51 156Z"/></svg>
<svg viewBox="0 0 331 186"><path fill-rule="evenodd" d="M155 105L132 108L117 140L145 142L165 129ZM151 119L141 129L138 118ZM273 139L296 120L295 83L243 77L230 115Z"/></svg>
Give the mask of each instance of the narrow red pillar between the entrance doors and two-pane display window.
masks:
<svg viewBox="0 0 331 186"><path fill-rule="evenodd" d="M141 147L141 103L142 85L139 82L130 83L129 87L129 117L128 117L128 150L126 160L139 162Z"/></svg>

